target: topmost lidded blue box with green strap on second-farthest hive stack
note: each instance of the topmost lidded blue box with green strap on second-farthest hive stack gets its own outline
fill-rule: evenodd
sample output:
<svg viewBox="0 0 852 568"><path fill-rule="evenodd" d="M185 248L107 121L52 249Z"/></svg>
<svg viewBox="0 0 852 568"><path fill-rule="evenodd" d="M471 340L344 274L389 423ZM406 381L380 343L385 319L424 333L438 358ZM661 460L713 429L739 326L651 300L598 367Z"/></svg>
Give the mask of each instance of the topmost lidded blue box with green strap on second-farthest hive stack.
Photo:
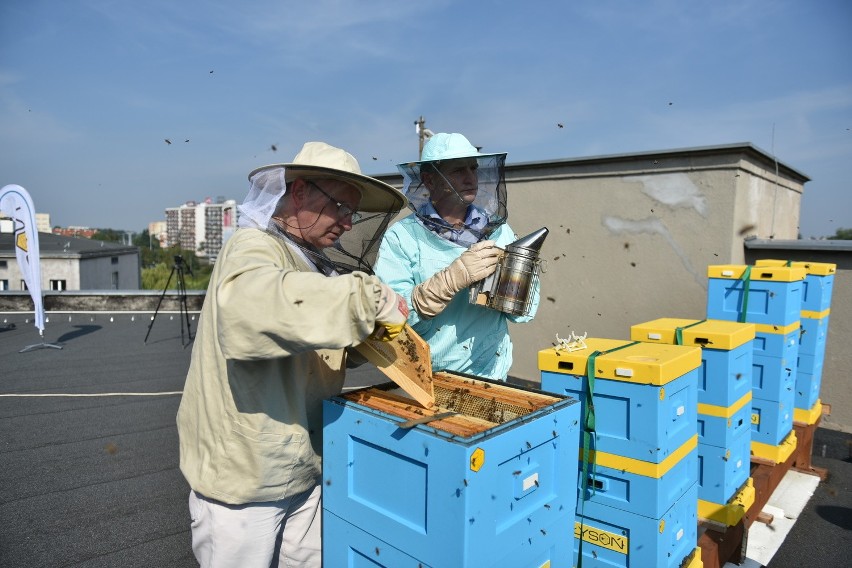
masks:
<svg viewBox="0 0 852 568"><path fill-rule="evenodd" d="M707 275L709 319L779 326L799 320L804 268L711 265Z"/></svg>

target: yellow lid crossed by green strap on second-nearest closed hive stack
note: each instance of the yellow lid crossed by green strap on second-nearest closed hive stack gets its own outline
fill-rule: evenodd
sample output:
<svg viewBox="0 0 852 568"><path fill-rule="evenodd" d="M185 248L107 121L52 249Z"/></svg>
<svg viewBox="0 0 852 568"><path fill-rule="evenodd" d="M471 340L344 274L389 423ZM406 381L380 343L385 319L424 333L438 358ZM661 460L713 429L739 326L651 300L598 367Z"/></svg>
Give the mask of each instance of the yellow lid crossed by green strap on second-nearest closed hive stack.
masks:
<svg viewBox="0 0 852 568"><path fill-rule="evenodd" d="M682 328L683 345L730 351L754 339L753 323L726 320L660 318L630 328L630 339L650 343L677 344L677 328Z"/></svg>

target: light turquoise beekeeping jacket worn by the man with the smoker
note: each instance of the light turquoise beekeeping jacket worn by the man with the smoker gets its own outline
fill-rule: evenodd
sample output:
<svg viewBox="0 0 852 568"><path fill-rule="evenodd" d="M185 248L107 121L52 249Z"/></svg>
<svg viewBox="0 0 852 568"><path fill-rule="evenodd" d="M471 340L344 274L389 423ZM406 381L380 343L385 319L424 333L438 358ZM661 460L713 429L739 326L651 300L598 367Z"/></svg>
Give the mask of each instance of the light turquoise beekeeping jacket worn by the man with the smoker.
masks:
<svg viewBox="0 0 852 568"><path fill-rule="evenodd" d="M501 225L490 237L505 248L517 237ZM538 310L539 282L533 289L530 312L515 316L469 302L469 289L460 291L443 312L424 319L411 304L415 286L457 259L465 247L443 239L423 226L414 214L388 229L373 267L376 276L405 297L408 323L429 343L432 369L506 380L512 366L512 340L508 322L530 321Z"/></svg>

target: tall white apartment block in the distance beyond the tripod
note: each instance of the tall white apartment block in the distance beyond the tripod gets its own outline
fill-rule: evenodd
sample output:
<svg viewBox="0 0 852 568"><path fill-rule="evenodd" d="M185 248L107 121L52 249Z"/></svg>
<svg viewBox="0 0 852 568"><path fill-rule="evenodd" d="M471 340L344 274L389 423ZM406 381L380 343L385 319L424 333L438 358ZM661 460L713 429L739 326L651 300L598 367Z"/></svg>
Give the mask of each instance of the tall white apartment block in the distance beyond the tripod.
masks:
<svg viewBox="0 0 852 568"><path fill-rule="evenodd" d="M219 197L202 203L187 201L166 209L166 246L193 251L211 262L237 226L237 202Z"/></svg>

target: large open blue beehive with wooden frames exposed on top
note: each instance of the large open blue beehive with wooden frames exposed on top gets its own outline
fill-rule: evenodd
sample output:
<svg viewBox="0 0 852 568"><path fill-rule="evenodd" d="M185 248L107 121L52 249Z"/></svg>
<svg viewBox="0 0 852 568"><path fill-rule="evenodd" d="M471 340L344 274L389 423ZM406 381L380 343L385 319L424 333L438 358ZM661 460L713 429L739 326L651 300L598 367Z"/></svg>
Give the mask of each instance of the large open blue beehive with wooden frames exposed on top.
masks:
<svg viewBox="0 0 852 568"><path fill-rule="evenodd" d="M323 402L324 564L566 565L580 405L449 373L433 383L432 410L393 383Z"/></svg>

